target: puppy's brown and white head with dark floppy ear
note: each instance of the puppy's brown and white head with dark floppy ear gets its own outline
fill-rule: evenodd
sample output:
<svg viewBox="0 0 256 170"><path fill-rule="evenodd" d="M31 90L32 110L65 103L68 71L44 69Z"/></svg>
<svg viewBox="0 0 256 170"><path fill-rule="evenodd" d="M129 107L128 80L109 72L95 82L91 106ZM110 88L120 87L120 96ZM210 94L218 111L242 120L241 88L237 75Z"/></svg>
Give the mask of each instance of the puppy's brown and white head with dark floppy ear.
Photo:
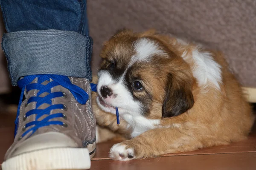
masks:
<svg viewBox="0 0 256 170"><path fill-rule="evenodd" d="M147 31L118 31L105 42L98 72L98 105L115 114L152 119L177 116L190 109L193 77L189 65L167 39Z"/></svg>

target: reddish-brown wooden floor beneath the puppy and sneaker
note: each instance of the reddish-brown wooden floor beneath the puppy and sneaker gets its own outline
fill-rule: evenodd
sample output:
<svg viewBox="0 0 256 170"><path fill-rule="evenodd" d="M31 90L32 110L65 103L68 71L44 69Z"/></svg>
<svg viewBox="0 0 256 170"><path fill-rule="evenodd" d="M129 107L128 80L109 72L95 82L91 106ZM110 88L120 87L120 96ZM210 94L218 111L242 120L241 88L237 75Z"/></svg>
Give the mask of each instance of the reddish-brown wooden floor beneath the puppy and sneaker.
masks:
<svg viewBox="0 0 256 170"><path fill-rule="evenodd" d="M14 119L13 113L0 113L0 163L13 141ZM256 127L253 129L247 140L228 146L124 162L108 158L118 141L105 142L97 145L91 170L256 170Z"/></svg>

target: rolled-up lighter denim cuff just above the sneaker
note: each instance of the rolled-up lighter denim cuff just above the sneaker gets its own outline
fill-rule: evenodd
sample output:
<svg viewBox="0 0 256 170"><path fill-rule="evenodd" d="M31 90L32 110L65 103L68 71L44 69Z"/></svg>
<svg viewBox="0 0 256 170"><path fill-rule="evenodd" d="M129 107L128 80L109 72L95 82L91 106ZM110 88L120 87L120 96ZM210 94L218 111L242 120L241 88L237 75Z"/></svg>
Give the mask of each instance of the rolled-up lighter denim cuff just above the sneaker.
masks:
<svg viewBox="0 0 256 170"><path fill-rule="evenodd" d="M12 85L20 77L58 74L91 81L93 40L74 31L26 30L3 35Z"/></svg>

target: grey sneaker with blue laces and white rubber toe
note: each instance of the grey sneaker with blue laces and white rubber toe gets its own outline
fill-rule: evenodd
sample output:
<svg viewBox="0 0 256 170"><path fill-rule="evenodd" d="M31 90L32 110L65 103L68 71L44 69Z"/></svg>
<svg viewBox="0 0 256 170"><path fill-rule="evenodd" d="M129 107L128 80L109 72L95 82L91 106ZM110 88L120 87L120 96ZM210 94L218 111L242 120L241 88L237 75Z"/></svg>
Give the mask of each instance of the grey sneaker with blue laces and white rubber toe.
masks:
<svg viewBox="0 0 256 170"><path fill-rule="evenodd" d="M90 81L33 75L18 85L25 100L22 95L3 170L89 169L96 149Z"/></svg>

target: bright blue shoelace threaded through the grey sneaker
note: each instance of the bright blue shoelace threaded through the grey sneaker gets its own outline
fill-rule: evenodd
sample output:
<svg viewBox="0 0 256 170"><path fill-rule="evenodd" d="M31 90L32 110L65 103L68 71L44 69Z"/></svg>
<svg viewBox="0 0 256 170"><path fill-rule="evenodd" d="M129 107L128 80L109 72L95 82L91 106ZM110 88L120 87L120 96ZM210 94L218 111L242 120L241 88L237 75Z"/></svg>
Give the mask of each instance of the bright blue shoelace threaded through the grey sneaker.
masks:
<svg viewBox="0 0 256 170"><path fill-rule="evenodd" d="M38 78L38 82L31 83L35 78ZM52 82L49 82L47 85L41 84L42 82L44 82L46 80L49 81L50 78L53 80ZM32 125L34 125L34 126L31 127L30 129L26 130L22 134L22 136L20 136L20 138L22 138L23 136L25 136L26 134L28 134L31 131L32 131L32 133L30 135L32 135L40 127L49 126L49 125L65 126L64 122L51 121L51 119L59 118L59 117L63 117L65 119L66 118L65 114L63 114L63 113L50 114L50 112L54 109L63 109L63 110L67 109L67 106L65 106L64 104L52 105L52 100L51 100L56 97L67 97L67 96L63 92L51 93L51 88L53 88L57 85L61 85L62 87L67 88L71 92L71 94L73 94L73 96L75 97L77 102L79 102L81 105L86 104L87 100L89 99L89 96L86 93L86 91L84 91L82 88L78 87L77 85L73 85L70 82L70 79L66 76L52 75L52 74L32 75L32 76L26 76L23 79L20 79L17 84L21 89L21 95L20 95L20 101L19 101L18 110L17 110L17 117L15 120L15 136L17 134L17 128L18 128L18 122L19 122L18 117L20 115L20 105L23 100L24 91L25 91L25 89L26 89L26 92L29 92L30 90L38 90L37 96L30 97L26 103L26 105L28 105L31 102L36 102L35 109L28 111L25 114L25 116L23 117L23 119L25 120L28 116L36 115L35 121L27 123L23 127L23 131L25 131L27 127L30 127ZM95 87L96 87L96 85L92 84L92 91L96 91ZM47 92L48 95L44 96L44 97L40 97L40 95L45 92ZM40 107L44 103L47 103L50 106L45 109L38 109L38 107ZM48 116L39 121L38 119L43 115L48 115Z"/></svg>

